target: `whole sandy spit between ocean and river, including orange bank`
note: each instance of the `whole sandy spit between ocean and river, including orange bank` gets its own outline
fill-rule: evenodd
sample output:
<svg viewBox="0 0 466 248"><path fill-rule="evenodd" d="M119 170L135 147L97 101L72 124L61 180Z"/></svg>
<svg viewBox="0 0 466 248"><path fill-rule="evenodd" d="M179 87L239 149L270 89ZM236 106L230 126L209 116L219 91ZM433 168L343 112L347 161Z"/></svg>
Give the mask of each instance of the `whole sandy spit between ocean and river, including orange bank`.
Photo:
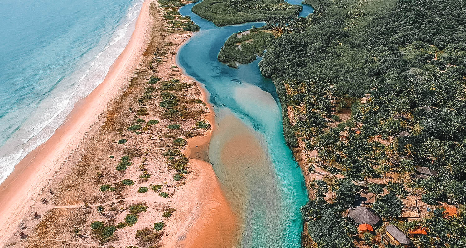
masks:
<svg viewBox="0 0 466 248"><path fill-rule="evenodd" d="M196 84L173 67L174 54L190 33L178 29L167 31L168 20L162 17L164 11L157 1L144 1L130 42L105 80L78 101L55 134L28 154L1 184L1 245L101 247L103 244L91 234L90 223L124 222L129 207L134 204L144 204L148 209L139 214L133 226L117 229L114 238L105 241L107 246L136 246L141 242L134 238L136 231L152 228L160 220L167 224L162 239L166 247L179 247L175 240L179 240L183 231L186 247L203 246L207 235L212 233L234 234L231 230L237 225L236 219L212 166L202 161L207 160L205 147L210 133L194 128L195 122L203 120L209 109L198 102L202 96ZM165 110L158 106L162 101L158 92L141 101L152 75L161 80L176 78L193 86L173 92L189 118L164 118ZM160 83L154 87L160 87ZM133 125L137 118L160 122L148 126L142 134L135 134L126 127ZM206 118L213 121L211 115ZM180 124L179 130L167 128L174 122ZM162 154L173 147L174 138L188 136L197 136L189 139L189 147L184 151L192 157L189 162L192 172L185 175L185 181L175 181L173 170ZM118 144L116 141L123 137L127 142ZM134 165L123 172L116 171L115 166L124 155L130 156ZM141 178L141 173L149 174L149 178ZM99 190L103 184L117 185L122 179L133 179L135 184L117 192ZM164 198L151 190L144 194L137 192L139 187L150 184L162 185L161 191L170 197ZM47 199L47 204L42 204L41 198ZM96 211L100 205L106 215ZM164 211L170 209L175 209L172 216L163 217ZM39 214L37 219L30 218L31 211ZM23 230L27 237L23 240L13 235L20 230L21 222L27 226ZM196 228L186 232L192 223ZM82 235L75 235L76 228Z"/></svg>

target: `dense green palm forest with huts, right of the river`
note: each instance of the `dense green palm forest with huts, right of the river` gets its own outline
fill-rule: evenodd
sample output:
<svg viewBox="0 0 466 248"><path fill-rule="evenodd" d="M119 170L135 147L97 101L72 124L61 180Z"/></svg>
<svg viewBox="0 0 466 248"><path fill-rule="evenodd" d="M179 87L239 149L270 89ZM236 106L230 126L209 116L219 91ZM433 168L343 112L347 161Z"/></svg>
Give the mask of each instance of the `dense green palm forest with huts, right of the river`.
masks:
<svg viewBox="0 0 466 248"><path fill-rule="evenodd" d="M307 3L314 14L233 34L218 56L235 67L267 50L309 189L303 247L463 246L466 6Z"/></svg>

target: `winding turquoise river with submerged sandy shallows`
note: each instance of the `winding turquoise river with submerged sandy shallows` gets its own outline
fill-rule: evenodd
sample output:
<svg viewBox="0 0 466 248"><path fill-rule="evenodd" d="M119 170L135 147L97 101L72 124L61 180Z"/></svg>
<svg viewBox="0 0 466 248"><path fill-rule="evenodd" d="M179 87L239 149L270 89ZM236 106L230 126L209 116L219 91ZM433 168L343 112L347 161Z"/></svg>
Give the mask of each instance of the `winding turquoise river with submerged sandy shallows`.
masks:
<svg viewBox="0 0 466 248"><path fill-rule="evenodd" d="M193 5L180 13L191 16L201 30L179 49L177 62L210 94L215 123L208 157L239 220L234 247L301 247L299 209L308 196L301 169L283 138L274 84L260 74L258 60L238 69L217 60L231 34L264 23L216 27L192 13Z"/></svg>

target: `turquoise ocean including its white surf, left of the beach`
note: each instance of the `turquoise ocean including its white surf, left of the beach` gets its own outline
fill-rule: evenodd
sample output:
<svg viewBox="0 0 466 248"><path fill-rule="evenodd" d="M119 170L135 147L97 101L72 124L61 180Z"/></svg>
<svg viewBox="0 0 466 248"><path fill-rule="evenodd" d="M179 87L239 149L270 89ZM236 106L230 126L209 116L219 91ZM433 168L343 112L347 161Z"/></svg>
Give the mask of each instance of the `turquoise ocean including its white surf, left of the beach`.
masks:
<svg viewBox="0 0 466 248"><path fill-rule="evenodd" d="M5 0L0 7L0 182L100 84L142 0Z"/></svg>

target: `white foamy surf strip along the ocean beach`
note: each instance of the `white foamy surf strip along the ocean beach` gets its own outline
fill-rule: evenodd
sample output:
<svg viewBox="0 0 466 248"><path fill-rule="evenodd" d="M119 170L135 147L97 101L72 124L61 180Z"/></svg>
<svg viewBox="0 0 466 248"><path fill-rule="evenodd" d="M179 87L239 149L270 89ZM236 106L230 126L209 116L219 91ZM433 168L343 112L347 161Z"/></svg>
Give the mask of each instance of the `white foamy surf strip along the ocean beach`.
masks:
<svg viewBox="0 0 466 248"><path fill-rule="evenodd" d="M116 27L111 40L101 47L98 53L95 52L97 55L93 55L92 60L82 61L82 66L87 64L87 69L83 74L76 75L82 71L78 68L78 71L61 82L63 84L66 82L68 86L73 86L73 88L63 86L52 91L47 99L36 106L38 112L31 113L23 127L1 147L2 149L7 148L0 150L0 182L13 172L14 166L22 158L52 136L55 129L63 123L71 112L76 101L88 95L102 83L110 66L123 52L130 40L138 16L137 13L140 11L143 1L140 0L128 8L126 19ZM96 49L99 48L96 47ZM18 141L21 141L21 144L18 145Z"/></svg>

